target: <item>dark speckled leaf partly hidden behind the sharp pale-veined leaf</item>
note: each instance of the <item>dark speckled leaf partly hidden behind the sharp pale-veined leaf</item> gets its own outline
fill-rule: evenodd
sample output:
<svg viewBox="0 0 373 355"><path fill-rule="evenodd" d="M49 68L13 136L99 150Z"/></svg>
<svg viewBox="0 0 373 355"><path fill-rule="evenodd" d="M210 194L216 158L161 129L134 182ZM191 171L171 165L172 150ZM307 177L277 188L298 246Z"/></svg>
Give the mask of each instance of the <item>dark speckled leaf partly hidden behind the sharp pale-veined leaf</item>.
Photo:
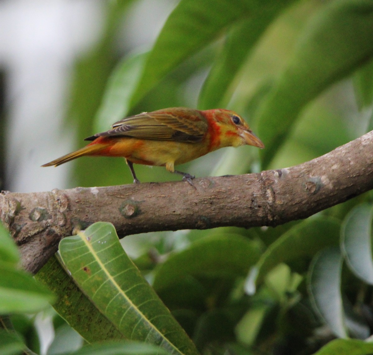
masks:
<svg viewBox="0 0 373 355"><path fill-rule="evenodd" d="M35 278L57 295L53 308L87 342L123 339L123 334L75 285L55 256L38 271Z"/></svg>

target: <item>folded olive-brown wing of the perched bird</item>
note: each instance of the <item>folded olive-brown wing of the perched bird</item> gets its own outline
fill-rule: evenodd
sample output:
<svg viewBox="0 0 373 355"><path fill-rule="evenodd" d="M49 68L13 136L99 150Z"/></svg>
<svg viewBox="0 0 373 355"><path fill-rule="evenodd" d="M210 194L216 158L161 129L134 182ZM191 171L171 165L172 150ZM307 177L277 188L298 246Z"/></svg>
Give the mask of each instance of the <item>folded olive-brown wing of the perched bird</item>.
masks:
<svg viewBox="0 0 373 355"><path fill-rule="evenodd" d="M160 141L199 142L207 132L207 120L197 110L176 108L144 112L126 117L112 125L109 131L98 136L133 137Z"/></svg>

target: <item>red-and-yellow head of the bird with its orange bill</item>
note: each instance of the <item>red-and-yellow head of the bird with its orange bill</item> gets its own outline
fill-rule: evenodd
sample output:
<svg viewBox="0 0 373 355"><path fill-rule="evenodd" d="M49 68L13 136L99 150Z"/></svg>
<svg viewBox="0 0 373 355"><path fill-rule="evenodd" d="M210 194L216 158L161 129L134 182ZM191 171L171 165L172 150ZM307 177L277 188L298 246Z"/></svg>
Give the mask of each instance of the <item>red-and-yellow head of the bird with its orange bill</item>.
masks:
<svg viewBox="0 0 373 355"><path fill-rule="evenodd" d="M216 109L207 110L206 118L211 122L215 130L218 148L239 147L248 144L254 147L264 148L263 142L251 131L249 125L234 111Z"/></svg>

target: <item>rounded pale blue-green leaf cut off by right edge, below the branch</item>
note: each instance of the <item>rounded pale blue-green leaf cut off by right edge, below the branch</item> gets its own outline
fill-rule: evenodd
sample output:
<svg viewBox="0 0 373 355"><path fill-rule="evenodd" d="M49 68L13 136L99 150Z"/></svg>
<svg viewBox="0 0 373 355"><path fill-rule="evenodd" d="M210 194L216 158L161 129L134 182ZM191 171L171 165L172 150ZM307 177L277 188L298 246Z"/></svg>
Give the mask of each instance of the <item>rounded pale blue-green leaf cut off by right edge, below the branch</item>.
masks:
<svg viewBox="0 0 373 355"><path fill-rule="evenodd" d="M346 216L341 229L341 249L347 265L370 285L373 285L372 219L372 205L357 205Z"/></svg>

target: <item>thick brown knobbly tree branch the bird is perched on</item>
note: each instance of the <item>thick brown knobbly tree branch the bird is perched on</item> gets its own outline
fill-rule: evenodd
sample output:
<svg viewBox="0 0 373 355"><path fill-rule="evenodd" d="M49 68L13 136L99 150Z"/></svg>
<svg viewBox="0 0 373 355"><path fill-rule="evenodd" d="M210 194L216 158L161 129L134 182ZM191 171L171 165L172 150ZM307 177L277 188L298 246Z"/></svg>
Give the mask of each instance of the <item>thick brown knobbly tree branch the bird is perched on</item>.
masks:
<svg viewBox="0 0 373 355"><path fill-rule="evenodd" d="M74 230L112 222L123 237L158 230L276 226L311 216L373 188L373 131L298 166L51 192L0 194L0 219L36 272Z"/></svg>

